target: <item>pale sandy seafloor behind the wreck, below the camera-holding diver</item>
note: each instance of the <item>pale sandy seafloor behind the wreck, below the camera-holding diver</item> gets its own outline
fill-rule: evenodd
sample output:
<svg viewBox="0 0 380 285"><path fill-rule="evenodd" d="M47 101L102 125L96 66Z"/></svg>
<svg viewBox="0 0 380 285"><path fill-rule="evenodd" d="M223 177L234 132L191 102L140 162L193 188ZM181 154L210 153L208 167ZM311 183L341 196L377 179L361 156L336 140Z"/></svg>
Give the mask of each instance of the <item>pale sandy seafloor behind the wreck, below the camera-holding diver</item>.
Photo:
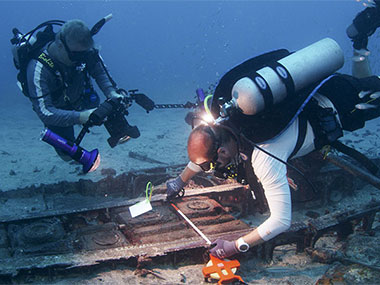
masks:
<svg viewBox="0 0 380 285"><path fill-rule="evenodd" d="M2 191L40 183L77 181L80 178L97 181L104 178L101 170L105 168L114 169L118 175L132 169L163 165L132 159L128 155L130 151L167 164L185 163L187 160L186 140L191 131L184 121L187 110L154 110L146 113L135 104L130 108L127 120L130 125L138 126L141 136L111 148L105 127L91 128L80 145L88 151L98 148L101 162L96 171L83 176L80 165L62 161L51 146L40 140L43 124L31 106L28 109L27 103L20 109L0 107ZM80 126L76 126L75 130L77 135Z"/></svg>

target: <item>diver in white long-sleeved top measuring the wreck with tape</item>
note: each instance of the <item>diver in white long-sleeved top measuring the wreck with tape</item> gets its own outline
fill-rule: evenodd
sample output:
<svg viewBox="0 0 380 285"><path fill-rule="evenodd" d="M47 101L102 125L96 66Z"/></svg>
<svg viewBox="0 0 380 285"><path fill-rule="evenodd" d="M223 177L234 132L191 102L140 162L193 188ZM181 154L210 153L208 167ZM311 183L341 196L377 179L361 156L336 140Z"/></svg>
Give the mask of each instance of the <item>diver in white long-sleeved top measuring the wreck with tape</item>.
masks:
<svg viewBox="0 0 380 285"><path fill-rule="evenodd" d="M369 20L368 14L372 15ZM292 207L286 164L280 160L286 162L324 145L334 145L343 136L343 130L360 129L367 120L380 116L380 79L370 74L365 40L373 30L363 30L366 27L376 29L380 25L379 15L377 7L369 7L359 13L347 29L354 42L354 76L334 74L297 93L298 101L289 99L275 105L270 109L272 112L252 116L235 112L222 123L199 125L192 130L187 145L190 162L176 179L167 182L168 199L175 197L191 177L202 170L223 173L245 164L243 168L253 172L254 179L261 183L270 210L270 217L247 235L234 241L216 240L211 254L218 258L230 257L287 230L291 225ZM370 20L376 24L361 23ZM218 98L251 96L250 92L257 90L257 82L252 80L257 73L247 70L247 66L261 68L265 65L260 62L263 59L278 61L287 55L289 53L284 54L283 50L264 54L229 71L215 89L213 113L221 112ZM246 106L239 107L241 111ZM247 147L252 145L249 142L254 142L256 147Z"/></svg>

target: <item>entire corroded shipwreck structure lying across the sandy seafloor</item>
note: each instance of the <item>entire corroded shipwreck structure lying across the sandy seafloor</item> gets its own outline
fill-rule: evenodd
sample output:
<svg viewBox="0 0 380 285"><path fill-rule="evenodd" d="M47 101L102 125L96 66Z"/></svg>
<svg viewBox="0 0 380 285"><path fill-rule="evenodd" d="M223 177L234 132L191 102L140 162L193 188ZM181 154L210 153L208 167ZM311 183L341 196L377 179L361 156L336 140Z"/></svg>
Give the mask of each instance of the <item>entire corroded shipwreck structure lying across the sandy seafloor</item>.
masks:
<svg viewBox="0 0 380 285"><path fill-rule="evenodd" d="M347 160L334 156L328 160L311 155L296 162L317 193L289 169L296 207L337 202L350 195L358 183L379 187L378 178ZM183 165L158 167L108 176L98 182L83 179L0 193L0 276L127 261L138 266L159 257L171 262L183 256L201 259L208 245L166 201L164 183L182 169ZM132 218L129 207L145 199L149 181L154 185L153 210ZM262 209L256 207L248 185L207 174L196 176L185 196L174 203L210 240L235 239L250 232L252 226L242 218ZM380 202L373 200L352 209L305 217L285 233L251 249L251 254L268 260L279 245L294 243L298 251L310 250L329 232L344 238L358 225L370 231L379 210Z"/></svg>

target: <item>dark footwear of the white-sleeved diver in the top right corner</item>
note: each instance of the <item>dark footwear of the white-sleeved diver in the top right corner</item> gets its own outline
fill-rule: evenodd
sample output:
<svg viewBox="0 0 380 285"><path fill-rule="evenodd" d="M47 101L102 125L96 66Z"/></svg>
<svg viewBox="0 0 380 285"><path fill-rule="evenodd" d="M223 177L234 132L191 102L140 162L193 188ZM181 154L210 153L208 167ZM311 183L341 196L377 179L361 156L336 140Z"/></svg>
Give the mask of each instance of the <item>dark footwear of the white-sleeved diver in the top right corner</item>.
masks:
<svg viewBox="0 0 380 285"><path fill-rule="evenodd" d="M352 40L354 49L366 49L368 37L380 27L380 1L375 1L375 6L367 7L358 13L352 24L347 27L347 36ZM380 3L379 3L380 4Z"/></svg>

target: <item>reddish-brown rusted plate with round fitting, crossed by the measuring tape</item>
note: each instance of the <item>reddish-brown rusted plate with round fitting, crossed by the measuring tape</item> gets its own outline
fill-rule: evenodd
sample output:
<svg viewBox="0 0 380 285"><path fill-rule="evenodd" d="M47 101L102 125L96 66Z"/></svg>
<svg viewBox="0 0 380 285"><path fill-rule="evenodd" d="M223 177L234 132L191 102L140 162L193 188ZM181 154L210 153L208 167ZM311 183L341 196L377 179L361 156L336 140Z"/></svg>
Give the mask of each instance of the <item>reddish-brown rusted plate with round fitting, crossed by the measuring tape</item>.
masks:
<svg viewBox="0 0 380 285"><path fill-rule="evenodd" d="M215 200L207 197L185 197L177 207L210 238L217 234L249 229L249 226L226 213ZM198 235L166 203L153 203L154 211L131 218L127 208L117 208L111 216L125 225L125 232L134 243L145 244L157 241L175 241L196 238ZM157 236L159 234L159 236Z"/></svg>

